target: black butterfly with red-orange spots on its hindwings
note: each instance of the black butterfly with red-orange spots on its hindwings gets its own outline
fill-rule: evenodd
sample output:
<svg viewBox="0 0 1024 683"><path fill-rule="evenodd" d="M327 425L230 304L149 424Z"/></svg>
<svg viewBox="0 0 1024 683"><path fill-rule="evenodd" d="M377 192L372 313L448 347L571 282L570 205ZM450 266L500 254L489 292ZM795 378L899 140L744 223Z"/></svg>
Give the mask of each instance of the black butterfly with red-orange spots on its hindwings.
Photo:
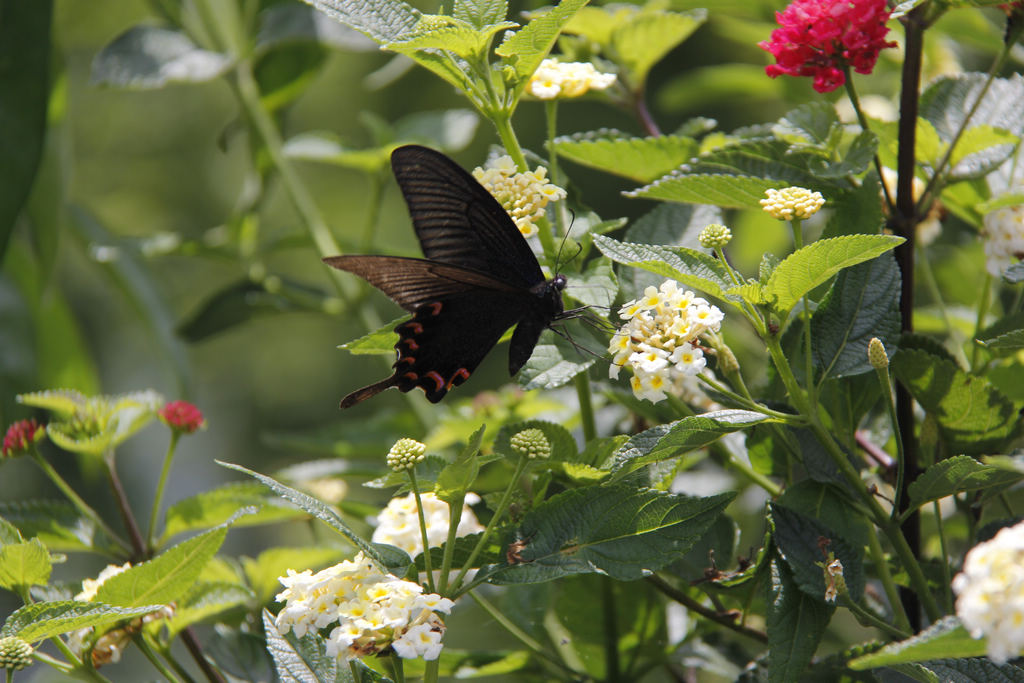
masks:
<svg viewBox="0 0 1024 683"><path fill-rule="evenodd" d="M391 154L426 259L334 256L413 318L394 330L394 374L341 400L350 408L389 387L420 387L436 403L465 382L513 325L509 374L529 359L545 328L564 314L565 276L545 280L529 245L476 179L439 152L410 144Z"/></svg>

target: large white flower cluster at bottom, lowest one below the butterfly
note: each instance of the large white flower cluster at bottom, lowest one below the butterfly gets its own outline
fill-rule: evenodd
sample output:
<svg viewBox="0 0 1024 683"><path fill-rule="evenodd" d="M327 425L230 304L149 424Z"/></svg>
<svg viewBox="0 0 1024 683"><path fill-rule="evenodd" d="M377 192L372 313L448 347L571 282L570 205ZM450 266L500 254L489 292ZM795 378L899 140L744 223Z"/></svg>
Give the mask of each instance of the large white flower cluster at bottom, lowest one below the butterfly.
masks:
<svg viewBox="0 0 1024 683"><path fill-rule="evenodd" d="M278 602L286 604L278 631L301 638L337 623L328 636L330 656L355 659L388 647L406 659L436 659L441 652L444 623L435 612L447 614L453 602L384 573L362 553L316 573L289 569L279 581L285 590Z"/></svg>

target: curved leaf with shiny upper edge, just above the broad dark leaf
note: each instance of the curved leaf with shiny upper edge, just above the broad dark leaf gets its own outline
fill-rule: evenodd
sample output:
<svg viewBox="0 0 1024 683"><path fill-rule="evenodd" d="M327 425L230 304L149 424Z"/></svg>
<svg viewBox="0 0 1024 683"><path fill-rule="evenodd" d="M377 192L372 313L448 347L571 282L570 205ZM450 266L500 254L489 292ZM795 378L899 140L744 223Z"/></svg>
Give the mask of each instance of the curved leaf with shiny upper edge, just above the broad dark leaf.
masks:
<svg viewBox="0 0 1024 683"><path fill-rule="evenodd" d="M651 463L702 449L722 436L770 420L753 411L723 410L658 425L633 436L615 453L612 481Z"/></svg>

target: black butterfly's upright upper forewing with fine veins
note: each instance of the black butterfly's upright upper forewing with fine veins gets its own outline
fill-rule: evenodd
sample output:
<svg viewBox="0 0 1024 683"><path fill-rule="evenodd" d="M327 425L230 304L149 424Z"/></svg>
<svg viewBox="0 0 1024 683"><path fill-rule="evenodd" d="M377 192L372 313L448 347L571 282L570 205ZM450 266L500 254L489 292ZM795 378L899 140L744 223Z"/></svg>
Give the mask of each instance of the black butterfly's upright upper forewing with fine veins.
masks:
<svg viewBox="0 0 1024 683"><path fill-rule="evenodd" d="M391 153L391 168L428 259L488 273L512 288L544 282L512 218L461 166L410 144Z"/></svg>

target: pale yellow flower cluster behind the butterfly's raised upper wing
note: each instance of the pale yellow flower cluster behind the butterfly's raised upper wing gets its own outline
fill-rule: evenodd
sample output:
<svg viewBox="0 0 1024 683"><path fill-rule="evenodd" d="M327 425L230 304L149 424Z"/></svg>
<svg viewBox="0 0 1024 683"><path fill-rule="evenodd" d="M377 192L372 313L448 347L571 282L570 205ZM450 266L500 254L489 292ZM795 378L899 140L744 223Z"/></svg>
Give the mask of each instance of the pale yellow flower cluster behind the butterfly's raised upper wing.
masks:
<svg viewBox="0 0 1024 683"><path fill-rule="evenodd" d="M548 169L517 173L515 162L508 155L487 162L486 169L473 169L473 177L490 193L512 216L522 237L537 234L535 220L544 218L550 202L565 199L565 190L548 182Z"/></svg>

